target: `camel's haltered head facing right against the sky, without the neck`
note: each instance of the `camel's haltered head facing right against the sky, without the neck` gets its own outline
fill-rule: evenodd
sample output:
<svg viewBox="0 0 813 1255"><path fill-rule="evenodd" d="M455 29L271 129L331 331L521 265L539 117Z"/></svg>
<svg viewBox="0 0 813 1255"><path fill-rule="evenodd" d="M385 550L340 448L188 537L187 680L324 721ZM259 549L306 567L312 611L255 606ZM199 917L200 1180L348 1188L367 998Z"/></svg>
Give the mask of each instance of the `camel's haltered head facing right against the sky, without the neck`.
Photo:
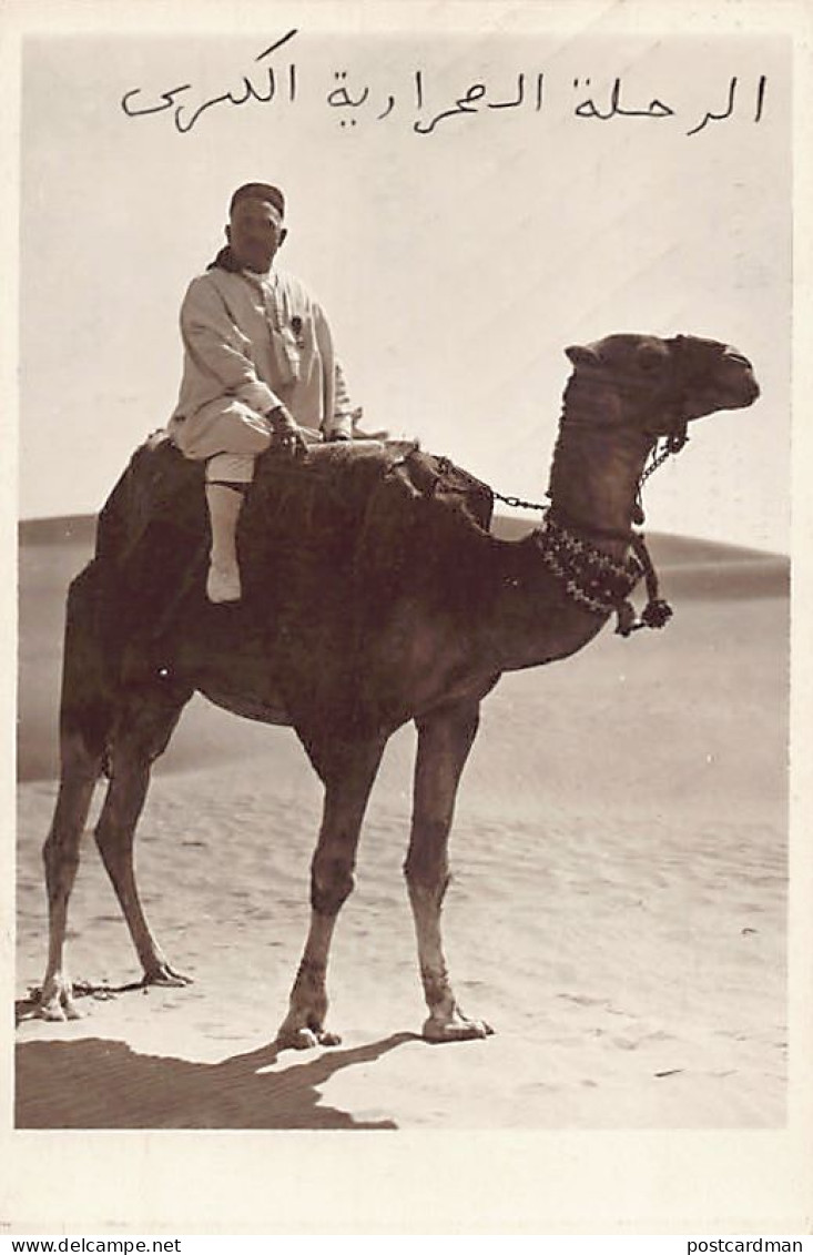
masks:
<svg viewBox="0 0 813 1255"><path fill-rule="evenodd" d="M565 351L576 368L571 384L583 385L582 395L590 393L608 425L637 427L652 437L759 397L750 361L718 340L608 335Z"/></svg>

